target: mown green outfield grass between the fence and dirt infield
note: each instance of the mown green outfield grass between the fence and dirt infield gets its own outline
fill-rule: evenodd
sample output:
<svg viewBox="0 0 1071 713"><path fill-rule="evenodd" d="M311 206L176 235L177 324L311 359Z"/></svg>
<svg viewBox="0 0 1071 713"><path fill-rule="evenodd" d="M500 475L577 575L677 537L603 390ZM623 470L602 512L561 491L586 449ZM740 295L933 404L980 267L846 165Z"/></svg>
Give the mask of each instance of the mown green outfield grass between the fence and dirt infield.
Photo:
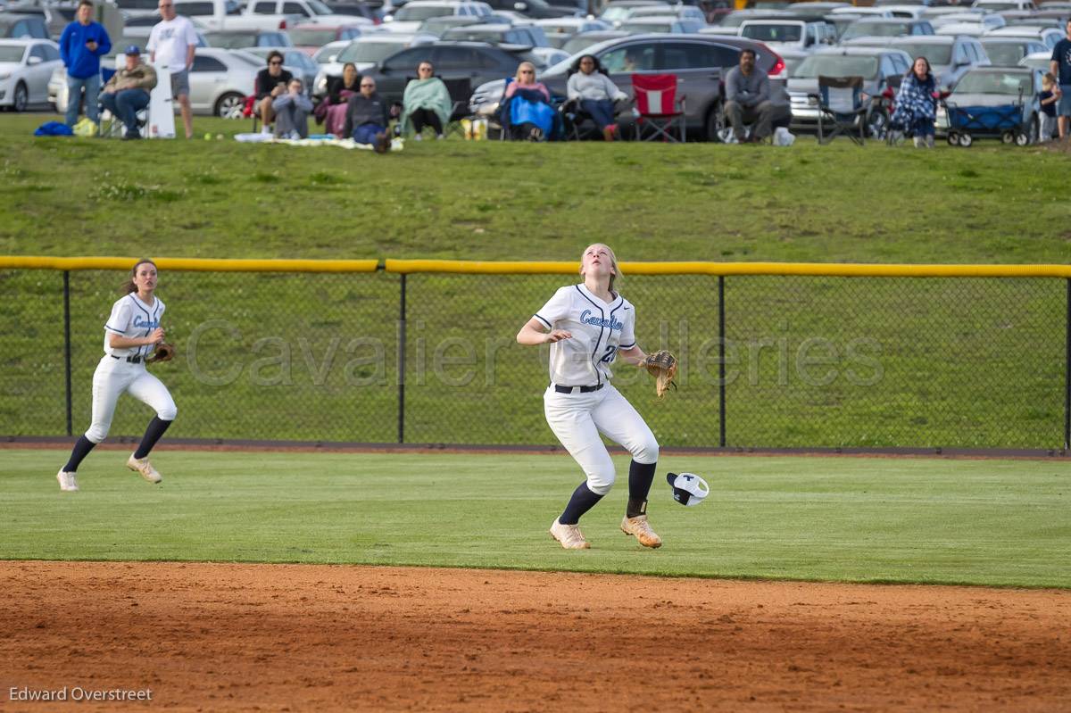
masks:
<svg viewBox="0 0 1071 713"><path fill-rule="evenodd" d="M617 530L622 481L582 522L592 549L567 552L546 529L579 480L568 456L162 450L151 486L102 451L66 494L54 477L65 452L0 453L2 559L1071 587L1057 461L664 456L649 505L663 548ZM674 503L667 469L705 475L710 498Z"/></svg>

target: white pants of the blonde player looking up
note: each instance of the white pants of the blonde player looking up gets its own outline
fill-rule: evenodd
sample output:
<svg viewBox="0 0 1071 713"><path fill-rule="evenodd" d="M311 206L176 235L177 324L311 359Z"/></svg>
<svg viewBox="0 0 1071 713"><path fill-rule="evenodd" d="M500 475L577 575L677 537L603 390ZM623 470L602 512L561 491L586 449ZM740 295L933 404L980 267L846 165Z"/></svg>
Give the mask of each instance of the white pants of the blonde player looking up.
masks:
<svg viewBox="0 0 1071 713"><path fill-rule="evenodd" d="M587 475L588 488L597 495L609 492L616 477L600 434L627 449L636 462L659 460L654 434L613 384L587 394L575 390L559 394L548 386L543 394L543 412L550 430Z"/></svg>

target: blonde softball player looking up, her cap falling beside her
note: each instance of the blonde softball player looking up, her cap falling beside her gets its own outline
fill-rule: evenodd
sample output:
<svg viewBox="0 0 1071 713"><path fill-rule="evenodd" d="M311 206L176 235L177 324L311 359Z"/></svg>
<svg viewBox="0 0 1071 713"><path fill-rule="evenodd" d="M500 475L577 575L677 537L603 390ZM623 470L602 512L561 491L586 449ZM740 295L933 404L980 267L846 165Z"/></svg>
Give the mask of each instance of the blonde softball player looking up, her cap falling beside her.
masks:
<svg viewBox="0 0 1071 713"><path fill-rule="evenodd" d="M595 243L584 251L580 275L583 284L555 292L517 333L521 344L550 344L550 384L543 394L546 422L587 476L550 526L550 536L565 549L590 547L577 522L609 492L615 479L602 434L632 454L621 530L645 547L661 547L662 538L647 521L647 494L659 444L636 409L610 383L610 364L618 356L635 366L646 358L636 346L636 310L614 291L621 271L606 245Z"/></svg>

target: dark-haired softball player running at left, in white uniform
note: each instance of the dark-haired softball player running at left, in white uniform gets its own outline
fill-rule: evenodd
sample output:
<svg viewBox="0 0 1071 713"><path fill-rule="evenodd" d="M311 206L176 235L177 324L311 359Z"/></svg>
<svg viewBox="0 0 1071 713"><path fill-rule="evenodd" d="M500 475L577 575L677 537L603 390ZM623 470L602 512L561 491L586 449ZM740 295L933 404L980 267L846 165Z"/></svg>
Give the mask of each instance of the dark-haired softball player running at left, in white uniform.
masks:
<svg viewBox="0 0 1071 713"><path fill-rule="evenodd" d="M61 490L78 489L78 465L108 435L116 401L123 392L156 411L126 467L150 483L162 480L149 462L149 451L171 425L177 410L167 386L145 368L146 359L164 340L164 330L160 327L164 303L155 295L156 264L152 260L138 261L122 291L124 295L111 306L111 315L104 324L104 358L93 373L93 423L74 444L71 459L56 474Z"/></svg>

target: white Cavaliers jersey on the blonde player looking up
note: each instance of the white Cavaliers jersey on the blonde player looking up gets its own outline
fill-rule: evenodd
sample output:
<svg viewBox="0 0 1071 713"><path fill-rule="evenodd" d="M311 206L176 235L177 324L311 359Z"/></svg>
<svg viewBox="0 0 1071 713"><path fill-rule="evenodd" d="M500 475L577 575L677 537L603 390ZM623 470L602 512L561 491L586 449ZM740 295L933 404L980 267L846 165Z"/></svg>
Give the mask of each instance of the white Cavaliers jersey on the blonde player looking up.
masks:
<svg viewBox="0 0 1071 713"><path fill-rule="evenodd" d="M536 318L547 329L567 330L572 339L550 345L550 382L597 386L608 382L620 349L636 346L636 310L620 294L603 302L584 285L562 287Z"/></svg>

